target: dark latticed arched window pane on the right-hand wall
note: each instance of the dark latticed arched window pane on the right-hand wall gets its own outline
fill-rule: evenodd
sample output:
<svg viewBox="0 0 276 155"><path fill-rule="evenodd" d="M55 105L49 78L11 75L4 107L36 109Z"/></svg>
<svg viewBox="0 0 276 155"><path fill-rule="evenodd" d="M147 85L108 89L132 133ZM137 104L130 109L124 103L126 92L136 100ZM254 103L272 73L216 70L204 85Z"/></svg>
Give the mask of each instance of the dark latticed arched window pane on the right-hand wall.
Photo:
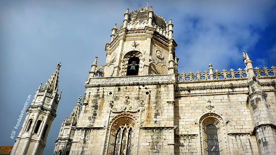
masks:
<svg viewBox="0 0 276 155"><path fill-rule="evenodd" d="M219 155L218 139L216 126L210 124L207 126L207 143L208 143L208 154Z"/></svg>

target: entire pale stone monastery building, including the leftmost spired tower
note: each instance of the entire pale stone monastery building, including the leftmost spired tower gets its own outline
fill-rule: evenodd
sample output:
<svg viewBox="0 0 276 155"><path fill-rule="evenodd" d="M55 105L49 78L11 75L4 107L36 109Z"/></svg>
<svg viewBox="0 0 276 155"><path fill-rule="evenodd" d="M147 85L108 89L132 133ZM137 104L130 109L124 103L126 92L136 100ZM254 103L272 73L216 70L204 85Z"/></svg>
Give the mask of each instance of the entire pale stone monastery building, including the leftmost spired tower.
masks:
<svg viewBox="0 0 276 155"><path fill-rule="evenodd" d="M173 22L152 7L124 14L95 58L83 99L53 154L274 154L276 69L178 73ZM42 154L61 99L59 69L37 89L12 154ZM244 66L241 66L244 67ZM96 77L99 76L99 77Z"/></svg>

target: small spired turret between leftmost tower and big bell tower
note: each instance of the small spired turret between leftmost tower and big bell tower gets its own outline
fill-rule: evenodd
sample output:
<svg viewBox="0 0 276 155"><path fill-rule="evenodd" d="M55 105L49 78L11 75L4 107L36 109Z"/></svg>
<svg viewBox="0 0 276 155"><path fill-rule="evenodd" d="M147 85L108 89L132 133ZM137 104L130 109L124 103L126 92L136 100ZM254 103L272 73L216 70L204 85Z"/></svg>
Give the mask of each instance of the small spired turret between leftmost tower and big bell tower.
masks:
<svg viewBox="0 0 276 155"><path fill-rule="evenodd" d="M56 155L68 155L71 149L72 140L75 134L77 120L79 118L80 112L80 103L81 103L81 96L78 98L78 102L73 109L69 119L66 119L62 122L61 130L56 140L56 145L54 148L53 154Z"/></svg>

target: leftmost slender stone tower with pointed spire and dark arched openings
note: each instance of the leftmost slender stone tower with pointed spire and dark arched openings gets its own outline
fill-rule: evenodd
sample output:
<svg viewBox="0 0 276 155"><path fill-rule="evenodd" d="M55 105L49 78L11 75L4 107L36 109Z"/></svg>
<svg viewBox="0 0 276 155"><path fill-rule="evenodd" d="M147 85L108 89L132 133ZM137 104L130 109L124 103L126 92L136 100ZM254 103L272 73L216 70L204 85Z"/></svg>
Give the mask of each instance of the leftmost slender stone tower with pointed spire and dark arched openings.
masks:
<svg viewBox="0 0 276 155"><path fill-rule="evenodd" d="M35 92L11 154L42 154L61 99L62 92L58 94L60 67L61 63L57 65L44 87L41 89L41 83Z"/></svg>

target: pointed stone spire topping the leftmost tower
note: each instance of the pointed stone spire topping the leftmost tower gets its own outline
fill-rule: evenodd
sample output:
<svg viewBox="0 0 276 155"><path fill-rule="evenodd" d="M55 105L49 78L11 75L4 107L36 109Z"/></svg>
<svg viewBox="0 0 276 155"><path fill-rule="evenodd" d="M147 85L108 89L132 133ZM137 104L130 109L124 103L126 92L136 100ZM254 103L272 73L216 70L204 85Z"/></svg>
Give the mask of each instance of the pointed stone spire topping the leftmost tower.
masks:
<svg viewBox="0 0 276 155"><path fill-rule="evenodd" d="M48 81L42 88L42 91L47 90L47 93L53 94L54 91L58 92L59 87L59 70L62 66L61 62L58 63L56 70L53 71L51 76L49 77Z"/></svg>

